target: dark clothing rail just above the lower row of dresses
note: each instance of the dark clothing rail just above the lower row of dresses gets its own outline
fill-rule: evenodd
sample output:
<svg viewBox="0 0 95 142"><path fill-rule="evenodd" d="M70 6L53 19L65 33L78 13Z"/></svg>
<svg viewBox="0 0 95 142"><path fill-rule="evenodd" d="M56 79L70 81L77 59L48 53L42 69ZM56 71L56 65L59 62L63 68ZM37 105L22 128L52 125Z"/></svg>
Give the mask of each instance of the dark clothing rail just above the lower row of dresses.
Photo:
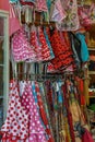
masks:
<svg viewBox="0 0 95 142"><path fill-rule="evenodd" d="M38 81L45 82L50 80L54 81L66 81L67 79L74 79L76 75L73 72L66 72L66 73L24 73L17 72L16 75L13 75L15 80L29 80L29 81Z"/></svg>

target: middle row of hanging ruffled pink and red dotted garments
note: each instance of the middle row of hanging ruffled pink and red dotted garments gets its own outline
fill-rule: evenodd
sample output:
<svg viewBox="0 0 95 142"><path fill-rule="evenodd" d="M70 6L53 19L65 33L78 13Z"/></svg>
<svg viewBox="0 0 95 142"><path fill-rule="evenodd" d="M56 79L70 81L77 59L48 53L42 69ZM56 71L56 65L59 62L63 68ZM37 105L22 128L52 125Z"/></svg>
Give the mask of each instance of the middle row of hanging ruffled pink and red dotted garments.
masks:
<svg viewBox="0 0 95 142"><path fill-rule="evenodd" d="M13 35L11 45L15 62L48 61L48 72L68 68L73 71L88 60L87 45L82 33L74 35L34 25L29 29L25 25Z"/></svg>

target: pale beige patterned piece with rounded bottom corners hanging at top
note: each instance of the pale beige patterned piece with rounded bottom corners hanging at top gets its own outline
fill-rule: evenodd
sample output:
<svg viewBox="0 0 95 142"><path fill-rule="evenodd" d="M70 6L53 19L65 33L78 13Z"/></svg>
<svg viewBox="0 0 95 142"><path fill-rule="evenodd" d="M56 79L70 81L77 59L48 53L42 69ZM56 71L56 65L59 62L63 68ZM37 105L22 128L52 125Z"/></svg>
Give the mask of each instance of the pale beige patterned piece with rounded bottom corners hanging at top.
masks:
<svg viewBox="0 0 95 142"><path fill-rule="evenodd" d="M79 28L79 15L76 0L61 0L62 8L67 11L67 16L61 22L57 22L57 28L61 31L75 31Z"/></svg>

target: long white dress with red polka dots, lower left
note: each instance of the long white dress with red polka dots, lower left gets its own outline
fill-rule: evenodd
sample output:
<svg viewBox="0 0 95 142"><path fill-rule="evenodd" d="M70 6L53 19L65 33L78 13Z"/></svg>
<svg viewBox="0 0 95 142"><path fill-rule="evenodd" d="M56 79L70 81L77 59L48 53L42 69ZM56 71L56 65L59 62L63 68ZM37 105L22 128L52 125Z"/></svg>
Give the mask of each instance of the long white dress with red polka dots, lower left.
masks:
<svg viewBox="0 0 95 142"><path fill-rule="evenodd" d="M15 81L10 82L9 109L4 125L1 128L2 142L25 141L28 138L28 114L22 107L19 88Z"/></svg>

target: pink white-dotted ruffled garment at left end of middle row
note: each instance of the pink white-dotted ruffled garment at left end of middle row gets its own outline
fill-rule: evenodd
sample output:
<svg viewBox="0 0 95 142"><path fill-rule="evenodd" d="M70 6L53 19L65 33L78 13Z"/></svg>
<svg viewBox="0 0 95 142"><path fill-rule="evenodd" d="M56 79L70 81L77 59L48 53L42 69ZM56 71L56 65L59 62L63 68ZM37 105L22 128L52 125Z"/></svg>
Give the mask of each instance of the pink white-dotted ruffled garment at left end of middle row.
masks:
<svg viewBox="0 0 95 142"><path fill-rule="evenodd" d="M12 38L12 55L14 61L35 61L36 55L26 38L23 29L17 31Z"/></svg>

